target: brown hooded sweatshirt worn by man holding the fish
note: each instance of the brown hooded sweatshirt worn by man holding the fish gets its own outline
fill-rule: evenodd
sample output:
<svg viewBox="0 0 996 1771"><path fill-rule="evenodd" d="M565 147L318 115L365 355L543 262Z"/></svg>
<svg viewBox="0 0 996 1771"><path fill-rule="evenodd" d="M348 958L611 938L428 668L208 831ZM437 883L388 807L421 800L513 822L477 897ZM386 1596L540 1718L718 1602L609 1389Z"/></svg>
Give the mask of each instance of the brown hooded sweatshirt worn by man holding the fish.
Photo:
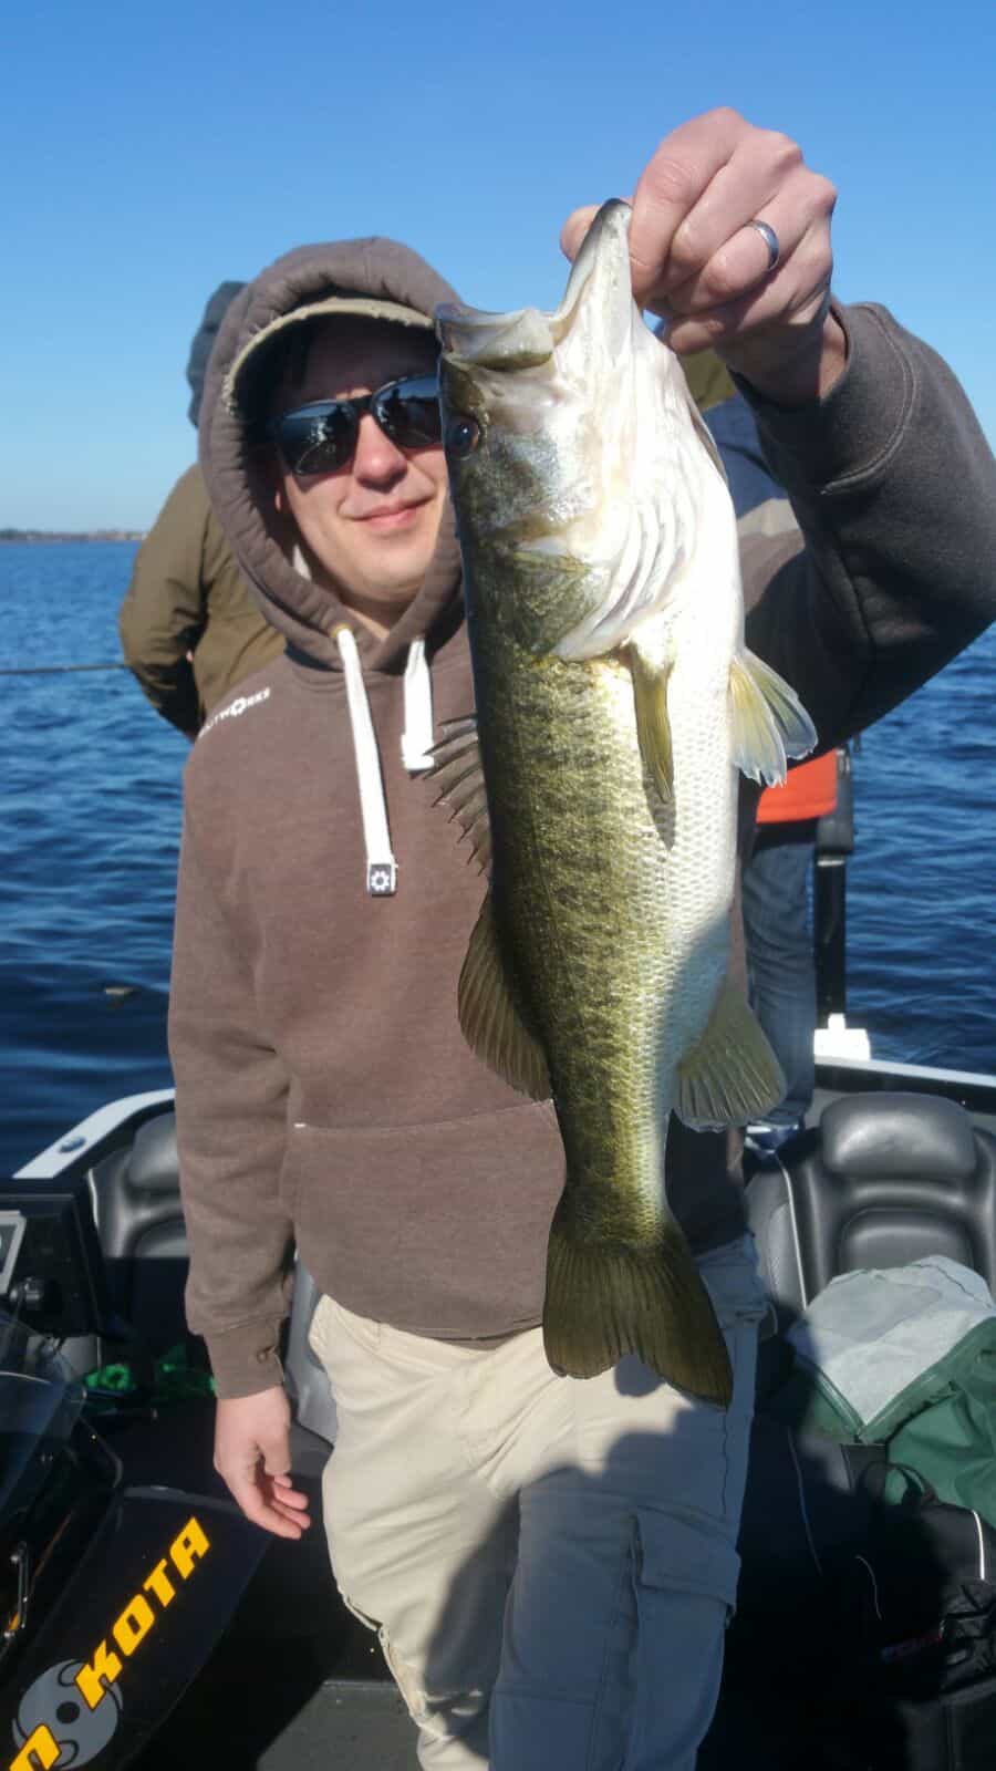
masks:
<svg viewBox="0 0 996 1771"><path fill-rule="evenodd" d="M401 754L413 641L425 639L436 733L471 708L452 535L377 643L268 533L241 421L220 398L255 331L331 290L424 313L452 299L390 241L303 248L236 299L211 365L209 491L291 643L207 723L186 770L170 1048L188 1314L222 1396L280 1381L294 1245L321 1289L413 1334L535 1325L562 1185L551 1107L514 1094L461 1036L457 976L484 884ZM851 361L828 400L803 413L753 400L806 545L798 530L743 545L748 643L798 687L822 746L886 712L996 615L996 466L964 395L883 310L842 321ZM363 717L347 700L342 623L379 753L393 896L367 889ZM367 799L369 777L367 765ZM744 790L744 834L755 802ZM739 940L734 963L743 972ZM739 1137L672 1123L668 1195L696 1250L743 1229L737 1183Z"/></svg>

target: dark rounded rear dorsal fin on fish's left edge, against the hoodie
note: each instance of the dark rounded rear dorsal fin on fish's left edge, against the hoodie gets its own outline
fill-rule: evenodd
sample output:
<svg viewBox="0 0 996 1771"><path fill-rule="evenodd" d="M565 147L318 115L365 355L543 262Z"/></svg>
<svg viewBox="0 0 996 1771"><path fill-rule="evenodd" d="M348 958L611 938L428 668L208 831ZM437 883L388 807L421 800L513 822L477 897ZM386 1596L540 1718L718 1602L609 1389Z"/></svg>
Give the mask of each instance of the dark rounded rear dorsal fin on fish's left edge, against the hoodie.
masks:
<svg viewBox="0 0 996 1771"><path fill-rule="evenodd" d="M526 1027L498 946L491 893L473 924L457 988L457 1011L471 1052L519 1094L549 1100L546 1054Z"/></svg>

